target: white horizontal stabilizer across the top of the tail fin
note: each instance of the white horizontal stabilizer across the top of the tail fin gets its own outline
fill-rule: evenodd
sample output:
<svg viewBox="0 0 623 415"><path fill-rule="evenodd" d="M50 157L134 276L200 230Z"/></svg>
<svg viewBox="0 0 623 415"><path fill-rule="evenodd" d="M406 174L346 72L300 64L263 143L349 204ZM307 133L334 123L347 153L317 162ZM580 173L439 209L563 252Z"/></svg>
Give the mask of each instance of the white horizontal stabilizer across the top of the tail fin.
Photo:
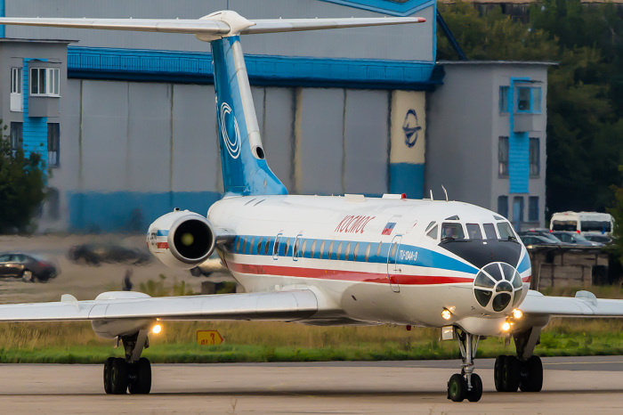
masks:
<svg viewBox="0 0 623 415"><path fill-rule="evenodd" d="M245 20L240 34L277 33L324 28L358 28L422 23L421 17L348 18L348 19L260 19ZM0 25L44 26L53 28L96 28L191 35L227 35L231 27L223 20L206 19L76 19L76 18L0 18ZM250 27L249 27L250 26Z"/></svg>

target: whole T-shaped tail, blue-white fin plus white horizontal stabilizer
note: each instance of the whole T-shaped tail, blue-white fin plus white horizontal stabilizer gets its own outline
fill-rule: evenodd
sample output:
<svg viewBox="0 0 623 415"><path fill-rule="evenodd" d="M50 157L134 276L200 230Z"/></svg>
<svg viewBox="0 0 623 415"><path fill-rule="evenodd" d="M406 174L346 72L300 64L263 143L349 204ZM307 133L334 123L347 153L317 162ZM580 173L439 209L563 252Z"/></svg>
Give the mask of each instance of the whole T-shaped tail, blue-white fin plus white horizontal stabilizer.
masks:
<svg viewBox="0 0 623 415"><path fill-rule="evenodd" d="M266 163L240 35L422 23L421 17L247 20L231 10L201 19L0 18L0 25L186 33L210 42L226 195L287 194Z"/></svg>

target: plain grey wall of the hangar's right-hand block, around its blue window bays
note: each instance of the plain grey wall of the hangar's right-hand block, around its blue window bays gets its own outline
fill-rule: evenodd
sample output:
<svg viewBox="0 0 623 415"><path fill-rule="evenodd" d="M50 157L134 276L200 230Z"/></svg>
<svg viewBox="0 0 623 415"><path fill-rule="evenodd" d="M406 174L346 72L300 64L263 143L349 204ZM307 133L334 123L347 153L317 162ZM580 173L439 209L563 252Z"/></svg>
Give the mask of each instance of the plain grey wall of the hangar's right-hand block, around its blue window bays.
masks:
<svg viewBox="0 0 623 415"><path fill-rule="evenodd" d="M429 140L426 153L426 189L440 198L444 185L450 199L467 201L493 211L498 197L508 196L509 219L513 198L524 198L522 227L544 226L546 207L546 64L476 62L445 64L444 85L429 95ZM512 177L498 175L498 140L513 136L509 113L499 110L499 88L511 77L530 78L542 94L540 114L532 114L532 131L526 138L540 139L540 174L529 175L528 159L521 164L520 179L528 192L512 193ZM528 85L528 84L526 84ZM515 114L516 116L516 114ZM511 154L511 157L513 154ZM529 196L538 196L538 222L528 222Z"/></svg>

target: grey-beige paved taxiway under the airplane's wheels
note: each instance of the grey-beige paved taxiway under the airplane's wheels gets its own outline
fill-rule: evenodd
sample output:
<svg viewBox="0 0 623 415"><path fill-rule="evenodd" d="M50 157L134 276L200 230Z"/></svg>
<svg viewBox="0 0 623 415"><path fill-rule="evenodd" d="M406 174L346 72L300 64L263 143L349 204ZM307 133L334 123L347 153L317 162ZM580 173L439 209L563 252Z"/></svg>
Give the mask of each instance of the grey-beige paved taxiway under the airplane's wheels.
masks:
<svg viewBox="0 0 623 415"><path fill-rule="evenodd" d="M479 403L452 403L459 361L154 364L150 395L105 395L101 365L0 365L0 413L621 413L623 356L543 360L540 393L498 393L476 360Z"/></svg>

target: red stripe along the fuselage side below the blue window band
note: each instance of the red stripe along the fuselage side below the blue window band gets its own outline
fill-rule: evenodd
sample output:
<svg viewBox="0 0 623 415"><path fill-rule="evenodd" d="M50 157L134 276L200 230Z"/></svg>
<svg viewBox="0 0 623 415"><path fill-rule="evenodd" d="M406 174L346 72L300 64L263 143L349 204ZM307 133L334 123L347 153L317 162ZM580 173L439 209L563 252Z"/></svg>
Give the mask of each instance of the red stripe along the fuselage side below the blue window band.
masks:
<svg viewBox="0 0 623 415"><path fill-rule="evenodd" d="M231 261L227 262L227 266L235 273L250 273L254 275L280 275L284 277L315 278L319 280L389 283L386 273L362 273L358 271L279 265L237 264ZM473 281L469 278L429 275L396 275L395 277L398 283L402 285L453 284L457 282Z"/></svg>

